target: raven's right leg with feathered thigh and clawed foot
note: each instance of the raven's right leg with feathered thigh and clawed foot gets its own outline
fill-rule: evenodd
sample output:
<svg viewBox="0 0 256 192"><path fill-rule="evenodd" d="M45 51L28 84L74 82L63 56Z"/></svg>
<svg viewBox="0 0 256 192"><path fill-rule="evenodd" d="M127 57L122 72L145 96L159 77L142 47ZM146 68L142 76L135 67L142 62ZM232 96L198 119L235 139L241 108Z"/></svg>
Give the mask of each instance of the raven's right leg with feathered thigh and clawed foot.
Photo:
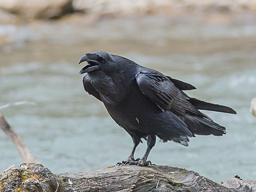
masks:
<svg viewBox="0 0 256 192"><path fill-rule="evenodd" d="M151 161L147 161L147 157L149 156L150 150L156 144L156 135L148 135L147 136L147 150L144 156L141 159L136 159L135 161L130 161L129 165L138 165L138 166L147 166L151 164Z"/></svg>

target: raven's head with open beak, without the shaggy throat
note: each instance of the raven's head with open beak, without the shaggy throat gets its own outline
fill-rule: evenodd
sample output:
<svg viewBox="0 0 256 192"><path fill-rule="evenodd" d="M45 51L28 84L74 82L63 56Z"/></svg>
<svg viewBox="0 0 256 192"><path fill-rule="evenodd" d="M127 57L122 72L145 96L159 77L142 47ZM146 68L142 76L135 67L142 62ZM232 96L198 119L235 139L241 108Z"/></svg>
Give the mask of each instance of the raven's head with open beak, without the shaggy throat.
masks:
<svg viewBox="0 0 256 192"><path fill-rule="evenodd" d="M113 56L106 52L95 52L93 54L87 53L81 57L79 64L84 61L87 61L88 65L83 67L79 74L102 70L102 68L105 68L109 62L113 62Z"/></svg>

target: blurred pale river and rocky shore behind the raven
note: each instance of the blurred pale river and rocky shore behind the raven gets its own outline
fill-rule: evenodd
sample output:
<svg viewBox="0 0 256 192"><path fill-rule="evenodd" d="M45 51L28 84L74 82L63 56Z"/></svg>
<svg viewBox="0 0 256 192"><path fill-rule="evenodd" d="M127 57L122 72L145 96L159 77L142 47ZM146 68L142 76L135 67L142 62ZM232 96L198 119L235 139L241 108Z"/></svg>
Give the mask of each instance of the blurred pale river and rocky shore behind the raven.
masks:
<svg viewBox="0 0 256 192"><path fill-rule="evenodd" d="M256 0L1 0L0 111L53 173L103 169L130 154L130 136L83 89L78 61L95 51L191 83L190 96L237 111L206 112L227 135L157 143L152 163L215 182L256 179ZM20 163L0 131L0 172Z"/></svg>

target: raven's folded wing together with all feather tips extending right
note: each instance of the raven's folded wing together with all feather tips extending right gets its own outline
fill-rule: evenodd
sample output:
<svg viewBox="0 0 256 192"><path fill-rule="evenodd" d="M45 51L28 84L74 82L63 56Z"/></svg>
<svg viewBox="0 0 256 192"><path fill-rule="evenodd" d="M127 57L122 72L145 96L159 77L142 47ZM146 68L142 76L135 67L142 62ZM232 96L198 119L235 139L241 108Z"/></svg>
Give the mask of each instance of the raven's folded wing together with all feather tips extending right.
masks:
<svg viewBox="0 0 256 192"><path fill-rule="evenodd" d="M153 69L140 71L136 75L136 81L144 95L149 97L163 111L170 110L182 119L194 134L213 134L216 136L225 134L225 127L214 123L211 118L198 109L235 114L235 111L230 107L189 97L182 90L191 90L194 86L179 80L173 81L170 77Z"/></svg>

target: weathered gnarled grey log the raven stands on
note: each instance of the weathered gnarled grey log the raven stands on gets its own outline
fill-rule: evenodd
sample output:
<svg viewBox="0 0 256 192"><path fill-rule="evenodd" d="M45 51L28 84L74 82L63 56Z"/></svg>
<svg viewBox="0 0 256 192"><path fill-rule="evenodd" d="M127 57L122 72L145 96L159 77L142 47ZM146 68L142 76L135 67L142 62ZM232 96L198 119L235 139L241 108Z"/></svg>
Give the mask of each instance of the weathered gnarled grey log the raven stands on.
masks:
<svg viewBox="0 0 256 192"><path fill-rule="evenodd" d="M170 166L110 166L84 173L52 174L41 164L21 164L5 170L0 192L253 192L256 181L238 176L215 183L194 171Z"/></svg>

